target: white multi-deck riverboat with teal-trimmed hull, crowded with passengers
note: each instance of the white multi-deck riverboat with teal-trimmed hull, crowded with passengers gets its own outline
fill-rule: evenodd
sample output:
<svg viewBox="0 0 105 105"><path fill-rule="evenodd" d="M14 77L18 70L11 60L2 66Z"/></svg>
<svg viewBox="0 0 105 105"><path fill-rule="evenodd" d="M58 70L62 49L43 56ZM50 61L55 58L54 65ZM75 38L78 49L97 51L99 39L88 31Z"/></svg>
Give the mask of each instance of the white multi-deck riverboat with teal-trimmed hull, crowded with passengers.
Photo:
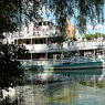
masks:
<svg viewBox="0 0 105 105"><path fill-rule="evenodd" d="M14 44L24 45L29 53L20 55L22 69L39 74L101 74L105 71L105 42L64 41L59 27L42 20L22 27L12 39Z"/></svg>

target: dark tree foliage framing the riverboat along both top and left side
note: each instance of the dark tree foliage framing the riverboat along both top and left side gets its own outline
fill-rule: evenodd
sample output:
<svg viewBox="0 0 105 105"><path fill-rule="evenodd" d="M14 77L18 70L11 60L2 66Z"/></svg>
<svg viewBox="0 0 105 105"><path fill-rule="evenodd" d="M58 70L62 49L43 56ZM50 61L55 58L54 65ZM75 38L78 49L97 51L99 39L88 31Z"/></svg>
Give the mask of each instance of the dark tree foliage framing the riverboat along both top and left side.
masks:
<svg viewBox="0 0 105 105"><path fill-rule="evenodd" d="M65 25L67 18L75 18L75 24L81 32L86 30L88 21L93 24L104 21L104 0L0 0L0 35L3 32L21 30L22 22L39 20L39 10L43 7L54 13L60 28ZM19 78L22 78L23 72L18 70L15 51L18 52L11 45L0 44L1 88L15 86Z"/></svg>

